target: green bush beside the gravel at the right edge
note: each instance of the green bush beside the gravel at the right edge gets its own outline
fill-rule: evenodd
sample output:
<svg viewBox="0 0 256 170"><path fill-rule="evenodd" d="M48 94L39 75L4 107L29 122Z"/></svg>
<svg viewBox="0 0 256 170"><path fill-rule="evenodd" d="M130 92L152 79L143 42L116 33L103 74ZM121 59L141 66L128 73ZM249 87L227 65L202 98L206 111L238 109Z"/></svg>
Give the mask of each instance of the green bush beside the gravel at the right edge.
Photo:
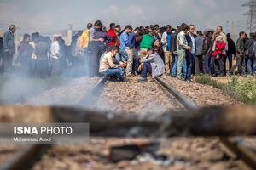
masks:
<svg viewBox="0 0 256 170"><path fill-rule="evenodd" d="M212 80L209 75L200 75L195 77L195 82L221 89L240 102L246 104L256 103L256 76L247 77L243 82L238 82L237 77L232 77L231 81L225 84Z"/></svg>

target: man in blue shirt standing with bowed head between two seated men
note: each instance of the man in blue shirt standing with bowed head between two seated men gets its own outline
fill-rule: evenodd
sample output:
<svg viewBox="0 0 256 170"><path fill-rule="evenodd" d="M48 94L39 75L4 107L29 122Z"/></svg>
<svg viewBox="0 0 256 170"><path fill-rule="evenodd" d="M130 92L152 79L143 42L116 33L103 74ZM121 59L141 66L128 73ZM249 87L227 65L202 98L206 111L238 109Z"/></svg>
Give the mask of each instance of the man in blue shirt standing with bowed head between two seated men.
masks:
<svg viewBox="0 0 256 170"><path fill-rule="evenodd" d="M122 62L128 60L128 54L125 49L126 49L126 47L128 47L129 34L131 33L131 31L132 31L132 27L130 25L127 25L127 26L125 26L125 31L123 31L120 35L119 53L121 54ZM132 65L132 63L131 63L131 65ZM127 67L128 67L128 64L127 64Z"/></svg>

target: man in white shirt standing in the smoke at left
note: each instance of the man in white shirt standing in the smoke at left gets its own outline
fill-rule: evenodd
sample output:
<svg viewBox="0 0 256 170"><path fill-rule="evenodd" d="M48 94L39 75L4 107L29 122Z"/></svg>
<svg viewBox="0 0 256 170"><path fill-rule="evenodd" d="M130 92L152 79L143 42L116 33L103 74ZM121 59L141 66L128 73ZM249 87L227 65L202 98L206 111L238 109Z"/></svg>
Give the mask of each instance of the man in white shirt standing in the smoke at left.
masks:
<svg viewBox="0 0 256 170"><path fill-rule="evenodd" d="M61 48L60 37L55 37L50 46L50 59L52 63L51 76L58 76L61 73Z"/></svg>

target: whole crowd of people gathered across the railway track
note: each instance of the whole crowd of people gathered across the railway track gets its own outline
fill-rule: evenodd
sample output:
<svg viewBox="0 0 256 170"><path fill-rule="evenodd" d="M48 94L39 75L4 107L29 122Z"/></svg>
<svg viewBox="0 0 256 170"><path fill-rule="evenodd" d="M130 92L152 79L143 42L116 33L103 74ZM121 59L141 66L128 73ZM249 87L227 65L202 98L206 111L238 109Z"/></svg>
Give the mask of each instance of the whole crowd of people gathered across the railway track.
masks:
<svg viewBox="0 0 256 170"><path fill-rule="evenodd" d="M111 23L107 31L97 20L94 25L88 23L85 31L78 31L70 46L62 37L51 40L38 32L25 34L15 61L14 33L15 25L10 25L3 35L1 67L9 72L15 63L20 65L20 72L32 77L106 75L125 81L125 77L141 74L138 81L147 81L150 73L153 77L166 74L191 82L192 76L199 74L231 77L236 67L242 76L256 71L256 34L250 33L247 38L241 31L235 44L222 26L216 31L195 32L194 25L185 23L176 29L170 25L135 29L127 25L122 29Z"/></svg>

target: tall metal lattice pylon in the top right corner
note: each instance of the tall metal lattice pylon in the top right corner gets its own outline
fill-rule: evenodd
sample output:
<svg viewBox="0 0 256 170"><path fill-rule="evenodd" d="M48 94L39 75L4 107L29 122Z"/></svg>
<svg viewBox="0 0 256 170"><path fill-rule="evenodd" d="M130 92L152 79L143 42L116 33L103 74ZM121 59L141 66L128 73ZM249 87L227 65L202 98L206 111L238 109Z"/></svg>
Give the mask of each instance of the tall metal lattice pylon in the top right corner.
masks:
<svg viewBox="0 0 256 170"><path fill-rule="evenodd" d="M247 13L247 31L253 32L256 28L256 0L249 0L248 3L241 5L242 7L249 8Z"/></svg>

